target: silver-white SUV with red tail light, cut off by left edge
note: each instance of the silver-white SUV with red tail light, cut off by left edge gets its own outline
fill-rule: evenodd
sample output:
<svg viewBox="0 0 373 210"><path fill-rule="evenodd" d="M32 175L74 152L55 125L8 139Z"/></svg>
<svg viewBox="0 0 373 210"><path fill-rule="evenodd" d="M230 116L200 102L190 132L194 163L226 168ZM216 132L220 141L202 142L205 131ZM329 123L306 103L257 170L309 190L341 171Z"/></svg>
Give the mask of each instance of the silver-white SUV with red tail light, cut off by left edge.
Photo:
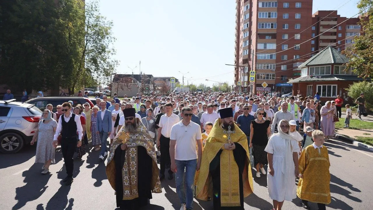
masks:
<svg viewBox="0 0 373 210"><path fill-rule="evenodd" d="M29 144L43 112L16 99L0 101L0 152L12 154Z"/></svg>

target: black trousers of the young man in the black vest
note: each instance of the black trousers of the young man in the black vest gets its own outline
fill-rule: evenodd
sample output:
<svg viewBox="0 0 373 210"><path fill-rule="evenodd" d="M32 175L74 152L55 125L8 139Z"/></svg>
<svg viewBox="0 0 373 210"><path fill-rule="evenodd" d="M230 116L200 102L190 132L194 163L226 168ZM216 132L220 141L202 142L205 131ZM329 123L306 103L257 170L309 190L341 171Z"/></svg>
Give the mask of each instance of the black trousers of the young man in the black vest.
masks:
<svg viewBox="0 0 373 210"><path fill-rule="evenodd" d="M69 177L72 177L72 172L74 169L74 160L72 156L76 150L76 144L78 139L76 136L72 138L63 138L61 139L61 149L63 160L65 161L66 173Z"/></svg>

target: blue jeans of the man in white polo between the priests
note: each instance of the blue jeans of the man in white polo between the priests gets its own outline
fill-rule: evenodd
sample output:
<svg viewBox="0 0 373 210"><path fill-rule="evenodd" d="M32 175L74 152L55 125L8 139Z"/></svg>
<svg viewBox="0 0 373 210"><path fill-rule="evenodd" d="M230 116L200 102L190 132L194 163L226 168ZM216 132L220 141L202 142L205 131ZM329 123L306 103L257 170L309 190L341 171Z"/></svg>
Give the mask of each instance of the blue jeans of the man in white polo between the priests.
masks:
<svg viewBox="0 0 373 210"><path fill-rule="evenodd" d="M197 159L175 160L175 164L177 169L175 173L176 192L178 193L180 203L185 203L186 209L193 209L194 177ZM186 194L184 191L184 183Z"/></svg>

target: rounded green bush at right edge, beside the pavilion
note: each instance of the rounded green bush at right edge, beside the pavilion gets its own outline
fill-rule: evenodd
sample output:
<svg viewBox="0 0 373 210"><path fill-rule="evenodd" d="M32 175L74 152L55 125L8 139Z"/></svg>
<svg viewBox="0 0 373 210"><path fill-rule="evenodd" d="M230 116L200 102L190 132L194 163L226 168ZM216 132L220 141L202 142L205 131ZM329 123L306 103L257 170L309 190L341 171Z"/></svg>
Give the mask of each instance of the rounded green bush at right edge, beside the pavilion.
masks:
<svg viewBox="0 0 373 210"><path fill-rule="evenodd" d="M348 96L350 96L353 101L360 96L360 93L365 93L364 98L366 100L366 109L373 108L373 83L368 81L356 82L350 84L348 88L346 88L348 92Z"/></svg>

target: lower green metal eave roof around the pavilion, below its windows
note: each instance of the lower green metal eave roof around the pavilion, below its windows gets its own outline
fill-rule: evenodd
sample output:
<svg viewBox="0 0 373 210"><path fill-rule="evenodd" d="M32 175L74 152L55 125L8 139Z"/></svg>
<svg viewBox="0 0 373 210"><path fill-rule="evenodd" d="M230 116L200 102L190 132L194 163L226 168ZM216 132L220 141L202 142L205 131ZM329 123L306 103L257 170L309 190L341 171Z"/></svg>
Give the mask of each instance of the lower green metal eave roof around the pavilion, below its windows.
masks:
<svg viewBox="0 0 373 210"><path fill-rule="evenodd" d="M366 80L371 81L370 78ZM363 78L357 77L357 75L344 75L344 74L334 74L334 75L320 75L320 76L305 76L298 77L294 80L288 81L287 83L298 83L298 82L311 82L311 81L364 81Z"/></svg>

